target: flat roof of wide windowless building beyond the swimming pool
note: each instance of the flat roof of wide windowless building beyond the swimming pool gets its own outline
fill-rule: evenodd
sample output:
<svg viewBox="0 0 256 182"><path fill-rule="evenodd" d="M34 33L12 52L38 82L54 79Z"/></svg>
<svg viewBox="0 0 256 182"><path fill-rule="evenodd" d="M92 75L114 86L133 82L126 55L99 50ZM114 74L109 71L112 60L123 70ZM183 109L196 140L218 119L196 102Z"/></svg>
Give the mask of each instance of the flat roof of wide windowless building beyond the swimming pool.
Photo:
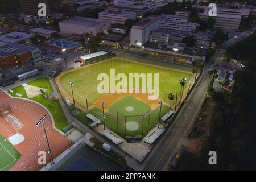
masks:
<svg viewBox="0 0 256 182"><path fill-rule="evenodd" d="M87 27L98 27L101 24L108 23L108 22L109 22L108 20L102 20L102 19L75 17L75 18L64 20L60 23L77 24L77 25L87 26Z"/></svg>

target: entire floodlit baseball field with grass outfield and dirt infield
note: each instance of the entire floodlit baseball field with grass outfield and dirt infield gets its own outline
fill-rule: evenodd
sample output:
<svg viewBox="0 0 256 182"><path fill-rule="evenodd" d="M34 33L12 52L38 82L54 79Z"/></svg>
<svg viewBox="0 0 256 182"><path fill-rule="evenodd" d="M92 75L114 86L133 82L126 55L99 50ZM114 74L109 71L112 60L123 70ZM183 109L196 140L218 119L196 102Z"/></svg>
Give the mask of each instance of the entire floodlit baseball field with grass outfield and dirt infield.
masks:
<svg viewBox="0 0 256 182"><path fill-rule="evenodd" d="M110 69L115 69L115 74L123 73L129 77L130 73L145 73L159 75L159 97L156 100L149 100L149 93L99 93L98 75L105 73L111 77ZM170 100L168 94L176 92L180 96L180 82L182 78L187 78L187 84L192 78L192 73L177 69L158 67L156 65L137 63L135 61L123 60L121 58L109 59L100 63L86 65L85 67L70 69L61 73L56 79L56 83L64 98L72 99L72 89L70 82L73 82L73 95L76 104L86 108L86 98L88 99L89 113L99 119L103 119L102 102L105 102L105 124L110 130L118 135L134 136L146 135L158 123L159 115L163 116L170 110ZM119 81L115 81L118 84ZM154 85L154 79L152 81ZM140 88L143 89L142 81L139 81ZM131 89L130 87L127 89ZM176 99L176 98L175 98ZM159 101L163 101L162 107ZM174 100L175 101L175 100ZM172 109L174 107L172 102ZM161 110L160 110L161 109ZM161 113L160 113L161 112ZM118 117L117 117L118 113Z"/></svg>

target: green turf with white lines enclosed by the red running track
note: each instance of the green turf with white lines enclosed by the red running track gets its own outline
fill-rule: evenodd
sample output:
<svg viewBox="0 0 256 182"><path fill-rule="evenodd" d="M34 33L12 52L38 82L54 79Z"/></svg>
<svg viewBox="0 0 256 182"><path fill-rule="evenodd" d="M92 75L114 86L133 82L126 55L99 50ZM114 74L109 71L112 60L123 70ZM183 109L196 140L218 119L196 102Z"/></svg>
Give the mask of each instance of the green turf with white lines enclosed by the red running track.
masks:
<svg viewBox="0 0 256 182"><path fill-rule="evenodd" d="M8 171L18 162L20 156L13 145L0 135L0 171Z"/></svg>

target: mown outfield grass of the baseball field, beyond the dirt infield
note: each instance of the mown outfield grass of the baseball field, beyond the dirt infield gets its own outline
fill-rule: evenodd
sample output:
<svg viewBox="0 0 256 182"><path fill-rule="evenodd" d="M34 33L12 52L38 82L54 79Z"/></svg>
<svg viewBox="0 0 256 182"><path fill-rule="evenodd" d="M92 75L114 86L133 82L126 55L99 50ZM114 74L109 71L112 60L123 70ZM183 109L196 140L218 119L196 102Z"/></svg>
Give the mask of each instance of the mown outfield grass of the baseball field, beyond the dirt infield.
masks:
<svg viewBox="0 0 256 182"><path fill-rule="evenodd" d="M125 73L159 73L159 97L165 102L168 101L168 93L180 92L179 80L186 77L187 85L191 80L192 73L180 72L167 68L159 68L154 65L145 65L130 61L111 59L102 63L93 64L89 67L78 69L61 76L60 84L65 91L71 96L71 86L69 81L72 81L74 96L76 102L86 107L85 98L88 98L89 105L96 100L101 94L97 92L97 86L101 81L97 80L98 74L107 73L110 77L110 69L115 68L115 74Z"/></svg>

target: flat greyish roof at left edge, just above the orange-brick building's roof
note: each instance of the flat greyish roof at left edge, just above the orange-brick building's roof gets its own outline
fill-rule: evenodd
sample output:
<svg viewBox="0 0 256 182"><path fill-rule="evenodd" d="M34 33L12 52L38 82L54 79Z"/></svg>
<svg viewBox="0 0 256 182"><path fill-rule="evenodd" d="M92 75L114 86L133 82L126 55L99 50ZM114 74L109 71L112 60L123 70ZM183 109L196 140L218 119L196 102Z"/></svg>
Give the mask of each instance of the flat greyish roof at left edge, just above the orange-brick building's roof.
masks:
<svg viewBox="0 0 256 182"><path fill-rule="evenodd" d="M34 35L27 34L23 32L11 32L9 34L4 34L0 36L0 41L6 41L6 42L22 42L23 40L30 39Z"/></svg>

